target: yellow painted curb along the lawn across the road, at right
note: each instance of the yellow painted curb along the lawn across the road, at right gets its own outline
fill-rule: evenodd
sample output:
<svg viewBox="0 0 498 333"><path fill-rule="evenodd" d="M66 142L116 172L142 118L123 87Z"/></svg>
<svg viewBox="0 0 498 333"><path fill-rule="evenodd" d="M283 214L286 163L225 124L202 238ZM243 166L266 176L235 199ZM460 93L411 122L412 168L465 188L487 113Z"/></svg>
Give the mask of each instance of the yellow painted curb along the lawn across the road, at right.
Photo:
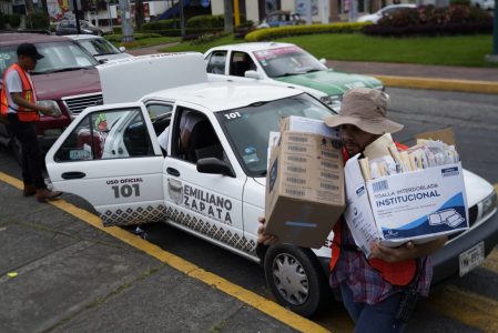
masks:
<svg viewBox="0 0 498 333"><path fill-rule="evenodd" d="M498 82L375 75L386 87L498 93Z"/></svg>

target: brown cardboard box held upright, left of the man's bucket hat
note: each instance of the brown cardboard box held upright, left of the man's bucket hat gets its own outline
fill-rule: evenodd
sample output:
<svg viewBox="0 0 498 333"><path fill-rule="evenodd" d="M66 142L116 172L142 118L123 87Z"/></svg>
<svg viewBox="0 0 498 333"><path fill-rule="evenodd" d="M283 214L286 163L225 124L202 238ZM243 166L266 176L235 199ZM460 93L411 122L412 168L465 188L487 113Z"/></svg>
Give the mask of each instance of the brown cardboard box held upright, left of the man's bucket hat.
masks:
<svg viewBox="0 0 498 333"><path fill-rule="evenodd" d="M319 249L344 211L344 171L334 132L311 123L284 120L266 176L265 216L266 231L281 242Z"/></svg>

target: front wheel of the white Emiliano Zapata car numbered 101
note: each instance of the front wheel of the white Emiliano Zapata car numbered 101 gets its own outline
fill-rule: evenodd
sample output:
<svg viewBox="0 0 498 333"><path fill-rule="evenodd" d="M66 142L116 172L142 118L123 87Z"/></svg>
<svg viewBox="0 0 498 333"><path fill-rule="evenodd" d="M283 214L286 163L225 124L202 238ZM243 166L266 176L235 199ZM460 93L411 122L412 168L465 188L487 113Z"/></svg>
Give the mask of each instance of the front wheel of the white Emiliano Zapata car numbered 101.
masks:
<svg viewBox="0 0 498 333"><path fill-rule="evenodd" d="M303 316L313 315L331 299L325 274L309 249L289 244L271 246L264 272L277 302Z"/></svg>

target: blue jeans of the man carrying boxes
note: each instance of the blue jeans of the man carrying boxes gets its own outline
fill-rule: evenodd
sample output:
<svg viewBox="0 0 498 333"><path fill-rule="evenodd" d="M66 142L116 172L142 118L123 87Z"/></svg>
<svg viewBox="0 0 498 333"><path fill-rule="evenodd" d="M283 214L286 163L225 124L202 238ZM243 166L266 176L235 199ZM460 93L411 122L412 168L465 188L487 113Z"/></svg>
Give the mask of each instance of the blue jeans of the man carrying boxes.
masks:
<svg viewBox="0 0 498 333"><path fill-rule="evenodd" d="M394 319L402 299L400 293L395 293L376 304L353 302L353 292L346 283L341 283L343 303L349 316L355 322L355 333L384 333L403 332L405 324Z"/></svg>

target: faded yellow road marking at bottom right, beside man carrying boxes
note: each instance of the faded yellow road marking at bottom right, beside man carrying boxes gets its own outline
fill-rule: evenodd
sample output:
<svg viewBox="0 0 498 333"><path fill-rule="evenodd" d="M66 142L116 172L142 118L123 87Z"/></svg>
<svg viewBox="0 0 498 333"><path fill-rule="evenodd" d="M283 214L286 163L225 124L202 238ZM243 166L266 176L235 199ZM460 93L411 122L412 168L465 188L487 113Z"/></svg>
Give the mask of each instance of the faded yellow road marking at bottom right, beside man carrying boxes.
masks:
<svg viewBox="0 0 498 333"><path fill-rule="evenodd" d="M497 301L448 285L443 293L430 297L427 305L434 312L482 332L498 332Z"/></svg>

